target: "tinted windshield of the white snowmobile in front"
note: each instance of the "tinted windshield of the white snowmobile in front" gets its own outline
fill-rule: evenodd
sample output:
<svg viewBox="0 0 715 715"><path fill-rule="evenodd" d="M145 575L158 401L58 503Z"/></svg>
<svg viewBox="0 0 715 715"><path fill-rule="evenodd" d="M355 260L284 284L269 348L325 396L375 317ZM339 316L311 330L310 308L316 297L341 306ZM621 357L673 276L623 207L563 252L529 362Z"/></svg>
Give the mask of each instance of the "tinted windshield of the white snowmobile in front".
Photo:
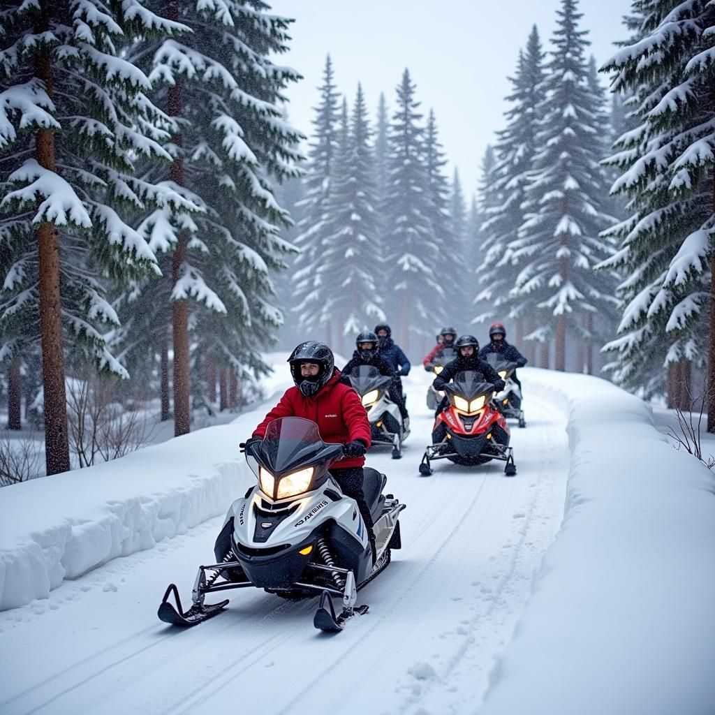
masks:
<svg viewBox="0 0 715 715"><path fill-rule="evenodd" d="M342 445L325 443L317 425L302 417L283 417L273 420L265 433L260 449L265 468L275 475L301 466L324 465L327 468L342 457ZM258 476L257 465L250 466Z"/></svg>

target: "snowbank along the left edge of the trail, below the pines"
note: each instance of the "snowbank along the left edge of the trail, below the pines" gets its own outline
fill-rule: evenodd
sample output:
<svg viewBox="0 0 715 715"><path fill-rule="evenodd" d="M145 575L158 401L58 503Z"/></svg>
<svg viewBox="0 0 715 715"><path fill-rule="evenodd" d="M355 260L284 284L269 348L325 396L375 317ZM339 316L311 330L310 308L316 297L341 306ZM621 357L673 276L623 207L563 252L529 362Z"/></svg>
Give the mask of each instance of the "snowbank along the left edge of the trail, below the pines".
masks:
<svg viewBox="0 0 715 715"><path fill-rule="evenodd" d="M277 367L266 394L287 385ZM0 489L0 611L225 513L255 483L238 443L269 402L229 425Z"/></svg>

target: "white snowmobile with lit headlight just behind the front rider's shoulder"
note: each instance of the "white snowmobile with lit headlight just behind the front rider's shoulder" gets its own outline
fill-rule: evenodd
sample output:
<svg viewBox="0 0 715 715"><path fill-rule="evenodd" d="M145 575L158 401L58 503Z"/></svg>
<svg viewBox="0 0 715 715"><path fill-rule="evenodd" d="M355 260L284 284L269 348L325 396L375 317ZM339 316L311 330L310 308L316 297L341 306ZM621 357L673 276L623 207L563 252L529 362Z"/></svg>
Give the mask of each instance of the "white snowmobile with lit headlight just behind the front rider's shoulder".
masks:
<svg viewBox="0 0 715 715"><path fill-rule="evenodd" d="M373 365L358 365L347 377L368 410L373 446L392 447L393 459L400 459L402 443L410 430L405 430L400 408L390 400L392 378L380 375Z"/></svg>

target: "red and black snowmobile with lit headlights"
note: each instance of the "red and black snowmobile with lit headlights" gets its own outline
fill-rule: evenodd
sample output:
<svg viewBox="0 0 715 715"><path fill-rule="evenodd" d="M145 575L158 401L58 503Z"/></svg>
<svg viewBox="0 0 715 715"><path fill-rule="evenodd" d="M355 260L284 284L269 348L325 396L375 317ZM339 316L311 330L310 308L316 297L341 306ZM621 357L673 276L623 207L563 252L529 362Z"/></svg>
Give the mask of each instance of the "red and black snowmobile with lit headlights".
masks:
<svg viewBox="0 0 715 715"><path fill-rule="evenodd" d="M432 474L431 461L435 459L463 465L498 459L506 462L506 476L516 475L506 418L490 405L495 389L471 370L457 373L453 382L445 385L450 404L435 418L432 444L425 450L420 474Z"/></svg>

